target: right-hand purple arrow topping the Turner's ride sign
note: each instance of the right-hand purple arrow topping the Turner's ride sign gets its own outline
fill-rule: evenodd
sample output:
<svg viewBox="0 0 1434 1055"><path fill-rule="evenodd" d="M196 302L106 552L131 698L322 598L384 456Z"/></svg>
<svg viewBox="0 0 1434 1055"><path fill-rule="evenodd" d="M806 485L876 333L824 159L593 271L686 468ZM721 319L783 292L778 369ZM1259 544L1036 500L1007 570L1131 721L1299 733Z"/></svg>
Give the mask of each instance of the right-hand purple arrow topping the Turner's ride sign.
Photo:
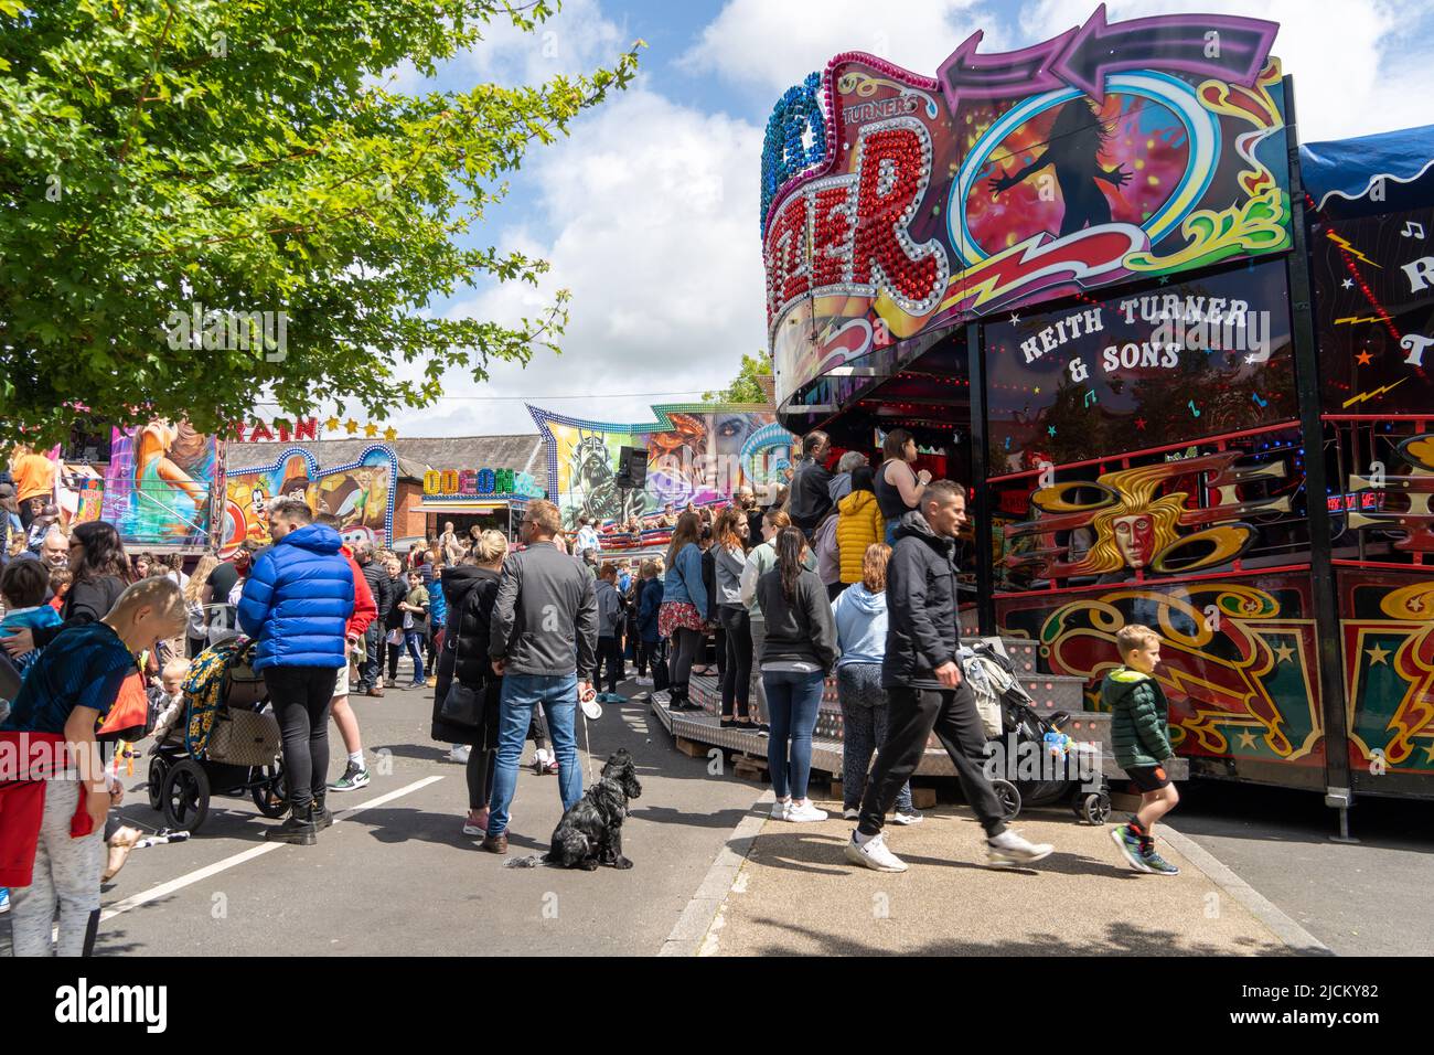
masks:
<svg viewBox="0 0 1434 1055"><path fill-rule="evenodd" d="M1250 86L1269 57L1278 22L1232 14L1157 14L1106 22L1096 9L1050 72L1096 102L1106 99L1106 75L1157 69Z"/></svg>

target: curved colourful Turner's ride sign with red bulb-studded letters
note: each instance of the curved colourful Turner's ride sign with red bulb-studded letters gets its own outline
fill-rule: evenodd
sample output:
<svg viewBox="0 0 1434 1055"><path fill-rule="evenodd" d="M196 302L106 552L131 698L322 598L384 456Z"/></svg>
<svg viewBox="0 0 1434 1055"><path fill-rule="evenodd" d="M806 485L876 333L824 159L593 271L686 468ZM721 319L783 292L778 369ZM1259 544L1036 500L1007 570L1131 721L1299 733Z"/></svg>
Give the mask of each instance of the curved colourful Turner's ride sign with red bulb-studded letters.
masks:
<svg viewBox="0 0 1434 1055"><path fill-rule="evenodd" d="M1162 16L936 79L845 53L763 149L777 400L875 349L1071 293L1285 251L1278 26Z"/></svg>

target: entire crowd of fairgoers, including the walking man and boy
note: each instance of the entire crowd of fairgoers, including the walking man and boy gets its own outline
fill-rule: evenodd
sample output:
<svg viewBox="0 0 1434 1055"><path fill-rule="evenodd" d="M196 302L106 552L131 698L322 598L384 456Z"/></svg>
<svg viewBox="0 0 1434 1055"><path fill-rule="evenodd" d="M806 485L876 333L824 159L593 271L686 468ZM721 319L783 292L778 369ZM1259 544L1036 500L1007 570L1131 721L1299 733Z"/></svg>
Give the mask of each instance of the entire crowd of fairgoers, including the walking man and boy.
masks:
<svg viewBox="0 0 1434 1055"><path fill-rule="evenodd" d="M247 545L231 560L205 555L186 574L163 555L132 558L105 521L66 531L46 524L39 505L30 525L43 530L29 531L16 508L23 488L0 482L11 540L24 538L0 571L0 647L19 679L13 699L0 700L0 741L39 736L69 752L29 779L0 781L0 807L22 818L0 834L16 952L93 944L100 876L113 876L133 843L109 814L123 788L113 745L106 749L98 733L126 679L152 676L152 713L172 725L191 659L235 630L254 643L252 669L282 741L287 812L268 840L314 844L333 824L330 792L369 784L348 698L394 688L404 650L413 665L404 688L433 689L430 733L466 766L462 830L503 854L525 741L535 742L536 772L556 775L562 807L572 807L582 797L579 709L624 702L618 685L631 660L654 706L700 711L691 677L704 669L711 639L718 723L767 738L773 818L827 817L809 779L823 689L835 673L843 817L856 821L849 860L906 868L883 827L888 817L922 820L909 778L935 733L985 830L988 863L1040 861L1053 847L1007 828L982 772L985 733L958 660L965 489L915 472L915 442L899 429L875 469L860 452L829 469L830 441L820 432L802 451L777 502L759 508L740 488L720 508L684 510L665 554L637 567L602 560L589 524L578 525L569 553L561 512L543 500L528 502L516 548L502 533L460 538L447 524L400 557L367 543L350 547L333 514L281 498L268 508L270 545ZM1172 755L1166 705L1152 677L1159 637L1143 627L1121 633L1127 666L1107 679L1106 695L1116 711L1116 761L1144 798L1116 840L1137 870L1173 874L1150 835L1176 802L1163 769ZM334 781L330 719L347 755ZM27 798L36 785L40 794Z"/></svg>

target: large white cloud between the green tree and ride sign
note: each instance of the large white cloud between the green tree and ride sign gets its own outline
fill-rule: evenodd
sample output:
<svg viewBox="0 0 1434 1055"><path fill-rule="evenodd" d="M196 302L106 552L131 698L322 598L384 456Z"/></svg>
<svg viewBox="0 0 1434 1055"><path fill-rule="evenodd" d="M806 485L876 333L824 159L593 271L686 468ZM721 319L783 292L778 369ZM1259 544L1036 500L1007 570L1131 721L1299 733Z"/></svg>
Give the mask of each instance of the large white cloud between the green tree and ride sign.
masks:
<svg viewBox="0 0 1434 1055"><path fill-rule="evenodd" d="M400 435L528 432L525 396L599 421L648 421L654 398L558 402L579 393L677 392L726 385L743 353L764 344L757 172L761 132L726 115L674 105L641 86L581 122L572 138L525 169L536 185L539 227L505 231L503 248L552 263L542 290L511 283L450 306L449 317L516 322L551 291L572 290L564 353L538 352L526 367L498 363L475 385L450 373L450 399L394 415ZM667 399L665 402L678 402Z"/></svg>

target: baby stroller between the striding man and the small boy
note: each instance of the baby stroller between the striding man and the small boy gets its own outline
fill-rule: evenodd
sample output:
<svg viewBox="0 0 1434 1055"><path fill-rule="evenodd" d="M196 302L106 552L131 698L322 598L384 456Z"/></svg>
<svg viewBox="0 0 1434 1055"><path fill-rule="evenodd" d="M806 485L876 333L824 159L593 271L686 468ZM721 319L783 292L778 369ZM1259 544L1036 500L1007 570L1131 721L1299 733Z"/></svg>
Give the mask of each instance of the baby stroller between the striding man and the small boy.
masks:
<svg viewBox="0 0 1434 1055"><path fill-rule="evenodd" d="M1101 772L1100 748L1077 744L1065 735L1070 715L1057 711L1044 718L1021 685L1011 660L998 644L981 642L962 647L961 665L977 696L988 738L987 775L1007 820L1022 807L1065 800L1087 824L1110 818L1110 784ZM1004 762L1004 775L998 775ZM995 769L995 771L994 771Z"/></svg>

